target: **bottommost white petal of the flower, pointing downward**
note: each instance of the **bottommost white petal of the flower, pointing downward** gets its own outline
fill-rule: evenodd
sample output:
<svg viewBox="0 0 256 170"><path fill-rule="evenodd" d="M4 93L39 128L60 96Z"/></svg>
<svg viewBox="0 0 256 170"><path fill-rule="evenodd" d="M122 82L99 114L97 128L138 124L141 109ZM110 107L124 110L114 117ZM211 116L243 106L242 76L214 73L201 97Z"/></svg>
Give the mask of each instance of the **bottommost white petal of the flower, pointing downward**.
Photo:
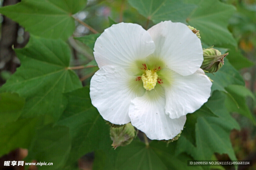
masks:
<svg viewBox="0 0 256 170"><path fill-rule="evenodd" d="M174 138L183 130L186 116L171 119L165 113L164 107L164 90L160 85L156 85L153 90L146 91L144 96L132 100L129 107L132 125L152 140Z"/></svg>

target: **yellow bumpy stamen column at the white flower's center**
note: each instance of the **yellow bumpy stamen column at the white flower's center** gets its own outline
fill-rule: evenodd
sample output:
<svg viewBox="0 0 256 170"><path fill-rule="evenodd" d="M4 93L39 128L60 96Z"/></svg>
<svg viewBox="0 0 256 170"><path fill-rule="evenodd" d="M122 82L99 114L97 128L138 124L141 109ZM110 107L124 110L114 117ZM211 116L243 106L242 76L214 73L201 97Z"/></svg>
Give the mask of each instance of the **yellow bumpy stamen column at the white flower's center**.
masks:
<svg viewBox="0 0 256 170"><path fill-rule="evenodd" d="M146 72L146 75L142 74L142 76L141 76L141 80L143 82L143 87L146 90L152 90L156 86L158 75L156 74L156 72L152 72L151 70L146 70L145 72Z"/></svg>

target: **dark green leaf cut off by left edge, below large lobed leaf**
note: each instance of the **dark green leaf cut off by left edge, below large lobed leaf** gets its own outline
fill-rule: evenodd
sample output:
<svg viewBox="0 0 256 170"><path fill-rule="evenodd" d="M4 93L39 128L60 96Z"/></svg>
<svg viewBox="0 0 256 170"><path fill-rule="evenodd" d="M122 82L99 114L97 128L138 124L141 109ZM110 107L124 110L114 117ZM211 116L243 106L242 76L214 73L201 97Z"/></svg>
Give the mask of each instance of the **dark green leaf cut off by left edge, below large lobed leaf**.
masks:
<svg viewBox="0 0 256 170"><path fill-rule="evenodd" d="M0 93L0 127L15 122L23 109L25 99L16 93Z"/></svg>

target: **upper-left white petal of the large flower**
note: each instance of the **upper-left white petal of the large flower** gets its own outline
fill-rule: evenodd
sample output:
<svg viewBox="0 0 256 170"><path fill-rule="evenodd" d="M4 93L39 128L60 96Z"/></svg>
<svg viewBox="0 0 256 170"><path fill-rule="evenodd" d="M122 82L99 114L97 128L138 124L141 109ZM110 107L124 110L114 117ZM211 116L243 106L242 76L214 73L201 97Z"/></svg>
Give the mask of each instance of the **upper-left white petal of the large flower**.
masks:
<svg viewBox="0 0 256 170"><path fill-rule="evenodd" d="M99 68L106 65L131 69L155 50L150 34L138 24L114 24L96 40L94 57Z"/></svg>

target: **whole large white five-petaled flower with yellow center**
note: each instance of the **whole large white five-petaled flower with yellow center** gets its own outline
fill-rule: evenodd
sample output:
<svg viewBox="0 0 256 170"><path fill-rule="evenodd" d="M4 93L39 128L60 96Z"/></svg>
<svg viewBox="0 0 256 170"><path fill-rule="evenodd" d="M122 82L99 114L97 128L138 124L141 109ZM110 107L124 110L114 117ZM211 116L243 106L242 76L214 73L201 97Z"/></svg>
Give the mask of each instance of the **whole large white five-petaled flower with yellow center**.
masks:
<svg viewBox="0 0 256 170"><path fill-rule="evenodd" d="M119 23L95 42L100 70L91 79L92 104L105 120L126 124L150 139L172 139L209 98L211 82L200 69L199 38L171 21L148 31Z"/></svg>

